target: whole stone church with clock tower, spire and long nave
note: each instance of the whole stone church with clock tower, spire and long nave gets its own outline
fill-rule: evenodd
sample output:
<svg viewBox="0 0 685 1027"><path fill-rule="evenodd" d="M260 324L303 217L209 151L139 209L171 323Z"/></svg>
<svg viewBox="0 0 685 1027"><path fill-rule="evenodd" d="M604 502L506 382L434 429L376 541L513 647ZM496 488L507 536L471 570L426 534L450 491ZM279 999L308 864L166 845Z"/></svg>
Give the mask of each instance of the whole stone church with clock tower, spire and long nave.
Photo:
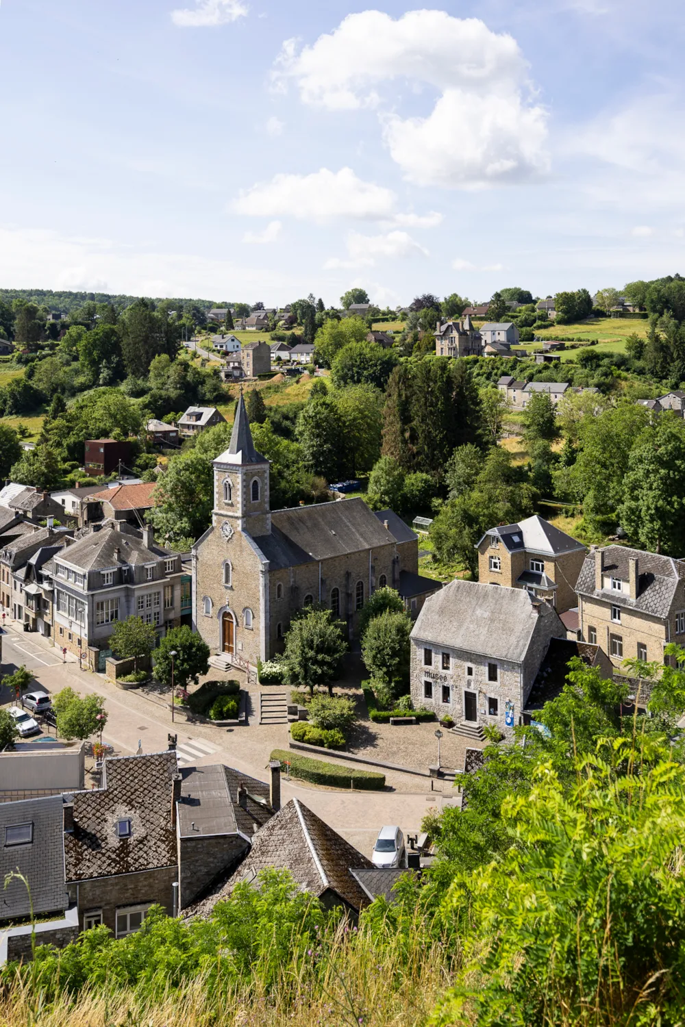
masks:
<svg viewBox="0 0 685 1027"><path fill-rule="evenodd" d="M351 640L376 588L395 588L416 617L441 587L419 575L418 538L392 510L354 498L272 511L269 461L255 449L242 395L213 466L212 526L192 548L193 627L226 665L280 652L303 607L331 609Z"/></svg>

